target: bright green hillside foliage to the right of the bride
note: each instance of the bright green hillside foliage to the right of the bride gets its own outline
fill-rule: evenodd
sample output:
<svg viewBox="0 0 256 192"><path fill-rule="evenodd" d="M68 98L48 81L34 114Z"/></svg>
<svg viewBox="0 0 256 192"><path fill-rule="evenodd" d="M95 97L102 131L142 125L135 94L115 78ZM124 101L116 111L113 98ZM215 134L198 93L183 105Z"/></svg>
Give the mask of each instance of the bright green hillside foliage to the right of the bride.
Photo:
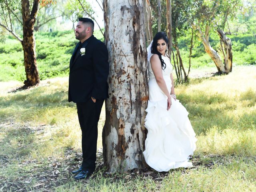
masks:
<svg viewBox="0 0 256 192"><path fill-rule="evenodd" d="M232 42L233 66L255 65L256 64L256 38L253 34L238 34L228 35ZM179 39L180 54L184 62L184 66L189 64L189 48L190 36ZM223 54L220 49L220 40L218 36L210 38L210 45L223 59ZM214 62L204 50L201 42L197 42L192 50L192 68L203 68L215 66Z"/></svg>

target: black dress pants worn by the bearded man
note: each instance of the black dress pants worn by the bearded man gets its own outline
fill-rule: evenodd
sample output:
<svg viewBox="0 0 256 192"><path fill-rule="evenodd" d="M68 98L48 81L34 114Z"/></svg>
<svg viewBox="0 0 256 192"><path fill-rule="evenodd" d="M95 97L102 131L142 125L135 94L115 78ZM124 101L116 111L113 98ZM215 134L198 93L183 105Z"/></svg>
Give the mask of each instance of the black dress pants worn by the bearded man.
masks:
<svg viewBox="0 0 256 192"><path fill-rule="evenodd" d="M82 130L82 152L84 171L94 172L97 150L98 121L104 100L88 99L86 102L76 103L79 124Z"/></svg>

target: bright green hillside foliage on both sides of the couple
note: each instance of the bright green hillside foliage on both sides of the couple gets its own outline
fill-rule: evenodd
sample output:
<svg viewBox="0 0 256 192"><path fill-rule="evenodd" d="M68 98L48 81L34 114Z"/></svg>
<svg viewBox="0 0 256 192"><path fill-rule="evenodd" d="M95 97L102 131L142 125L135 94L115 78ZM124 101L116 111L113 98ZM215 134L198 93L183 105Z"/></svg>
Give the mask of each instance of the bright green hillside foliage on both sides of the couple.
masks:
<svg viewBox="0 0 256 192"><path fill-rule="evenodd" d="M104 41L99 30L94 32L96 38ZM256 38L253 34L238 34L229 36L232 40L233 65L255 65L256 64ZM36 38L36 56L40 79L52 77L68 76L69 61L72 52L78 43L74 37L74 32L38 32ZM210 44L218 53L220 52L220 42L218 36L210 39ZM179 39L180 52L184 66L188 66L190 37ZM24 59L22 45L12 36L4 39L0 44L0 81L18 80L24 81ZM222 56L223 58L223 56ZM192 68L204 68L215 66L210 56L208 56L200 42L196 44L192 52Z"/></svg>

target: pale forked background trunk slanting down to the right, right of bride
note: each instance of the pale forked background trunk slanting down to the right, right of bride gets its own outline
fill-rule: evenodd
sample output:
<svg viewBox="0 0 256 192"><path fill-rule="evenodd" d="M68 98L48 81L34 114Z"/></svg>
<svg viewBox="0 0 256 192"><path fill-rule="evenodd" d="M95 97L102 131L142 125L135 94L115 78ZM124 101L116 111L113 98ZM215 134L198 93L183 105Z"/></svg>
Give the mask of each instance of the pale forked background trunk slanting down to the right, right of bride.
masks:
<svg viewBox="0 0 256 192"><path fill-rule="evenodd" d="M218 72L219 73L226 73L226 70L225 70L224 65L222 63L220 55L210 46L210 43L209 43L210 26L206 26L206 29L205 29L204 33L201 31L199 26L196 26L196 28L198 29L199 38L200 38L200 40L202 41L202 43L204 45L204 49L205 49L206 53L214 61L215 65L218 69Z"/></svg>

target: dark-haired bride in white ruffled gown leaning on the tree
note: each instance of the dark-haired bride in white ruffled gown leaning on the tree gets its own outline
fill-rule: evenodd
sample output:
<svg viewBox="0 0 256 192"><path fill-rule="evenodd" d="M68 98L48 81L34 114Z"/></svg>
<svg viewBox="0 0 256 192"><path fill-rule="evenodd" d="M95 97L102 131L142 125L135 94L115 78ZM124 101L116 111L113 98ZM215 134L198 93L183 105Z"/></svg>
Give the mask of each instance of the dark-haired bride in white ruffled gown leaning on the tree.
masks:
<svg viewBox="0 0 256 192"><path fill-rule="evenodd" d="M166 54L168 38L158 32L148 47L149 101L143 152L146 163L158 172L192 166L188 161L196 149L196 137L188 112L176 100L172 65Z"/></svg>

